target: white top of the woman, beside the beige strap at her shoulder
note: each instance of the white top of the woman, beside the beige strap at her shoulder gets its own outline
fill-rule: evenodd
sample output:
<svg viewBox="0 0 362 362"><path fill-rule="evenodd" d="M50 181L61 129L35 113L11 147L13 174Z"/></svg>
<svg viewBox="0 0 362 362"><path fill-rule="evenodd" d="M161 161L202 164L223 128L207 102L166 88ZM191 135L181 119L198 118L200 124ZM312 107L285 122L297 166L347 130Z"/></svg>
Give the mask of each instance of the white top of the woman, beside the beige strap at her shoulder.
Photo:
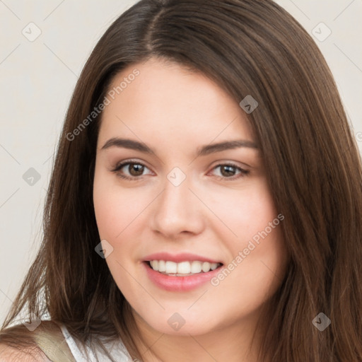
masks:
<svg viewBox="0 0 362 362"><path fill-rule="evenodd" d="M76 362L96 362L98 357L98 361L100 362L108 362L110 361L110 358L105 356L103 351L96 351L96 356L93 354L91 348L89 346L86 346L86 350L88 351L88 356L90 359L86 358L86 354L84 352L84 349L82 348L79 341L76 341L73 337L71 337L71 334L69 334L68 330L64 325L60 326L62 329L62 333L64 335L64 338L66 339L66 343L69 346L69 349L71 350L71 354L73 354ZM131 356L129 356L126 347L122 343L122 341L119 340L119 342L115 343L108 343L105 344L105 348L107 349L108 353L112 356L112 358L115 359L117 362L132 362Z"/></svg>

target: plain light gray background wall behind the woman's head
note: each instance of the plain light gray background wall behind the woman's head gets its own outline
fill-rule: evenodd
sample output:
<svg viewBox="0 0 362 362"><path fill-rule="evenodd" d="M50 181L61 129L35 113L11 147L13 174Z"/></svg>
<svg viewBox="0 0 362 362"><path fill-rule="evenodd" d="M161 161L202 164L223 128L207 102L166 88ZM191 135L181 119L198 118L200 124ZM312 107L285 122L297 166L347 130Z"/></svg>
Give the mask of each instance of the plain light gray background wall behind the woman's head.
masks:
<svg viewBox="0 0 362 362"><path fill-rule="evenodd" d="M362 0L276 2L325 54L362 150ZM78 74L110 23L135 3L0 0L0 323L40 245L52 156ZM39 31L29 23L41 31L33 41L23 35ZM30 168L40 180L23 179Z"/></svg>

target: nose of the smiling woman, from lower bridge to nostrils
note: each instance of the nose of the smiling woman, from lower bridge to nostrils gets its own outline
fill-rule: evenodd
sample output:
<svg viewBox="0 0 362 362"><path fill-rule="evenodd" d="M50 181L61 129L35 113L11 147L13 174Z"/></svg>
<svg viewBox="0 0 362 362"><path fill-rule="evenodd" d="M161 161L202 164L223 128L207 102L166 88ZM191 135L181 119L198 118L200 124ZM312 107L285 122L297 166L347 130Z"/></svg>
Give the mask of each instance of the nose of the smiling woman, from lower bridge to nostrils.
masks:
<svg viewBox="0 0 362 362"><path fill-rule="evenodd" d="M166 179L163 186L163 192L153 203L151 213L153 230L168 239L202 233L205 210L202 202L190 190L192 185L189 185L188 178L177 186Z"/></svg>

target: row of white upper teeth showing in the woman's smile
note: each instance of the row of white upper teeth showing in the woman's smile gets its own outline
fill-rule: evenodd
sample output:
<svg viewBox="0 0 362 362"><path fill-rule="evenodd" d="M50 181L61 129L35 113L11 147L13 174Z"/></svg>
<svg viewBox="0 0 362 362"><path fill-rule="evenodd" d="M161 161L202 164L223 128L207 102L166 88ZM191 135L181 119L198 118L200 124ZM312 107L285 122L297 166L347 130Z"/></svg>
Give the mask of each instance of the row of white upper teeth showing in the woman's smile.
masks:
<svg viewBox="0 0 362 362"><path fill-rule="evenodd" d="M187 274L198 274L204 271L207 273L210 270L215 270L219 263L199 262L197 260L193 262L170 262L165 260L151 260L151 268L155 271L160 271L163 274L174 274L176 276L182 276Z"/></svg>

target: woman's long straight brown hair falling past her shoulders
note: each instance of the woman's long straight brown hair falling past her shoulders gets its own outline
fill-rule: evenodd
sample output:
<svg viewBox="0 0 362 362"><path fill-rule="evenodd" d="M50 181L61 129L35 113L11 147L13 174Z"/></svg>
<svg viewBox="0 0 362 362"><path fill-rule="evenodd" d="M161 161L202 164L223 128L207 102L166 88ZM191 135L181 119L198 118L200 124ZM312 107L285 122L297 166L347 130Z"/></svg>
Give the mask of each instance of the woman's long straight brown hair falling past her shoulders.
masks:
<svg viewBox="0 0 362 362"><path fill-rule="evenodd" d="M102 115L93 114L71 141L69 134L103 101L119 71L151 57L209 76L238 103L246 95L259 103L247 117L276 209L285 216L290 255L281 287L265 306L260 361L362 361L361 159L325 59L271 0L141 0L110 26L69 105L45 204L44 240L0 342L14 344L5 328L25 308L31 315L49 313L81 341L121 337L141 358L130 306L94 250L100 243L92 195ZM319 313L331 320L323 332L312 323Z"/></svg>

